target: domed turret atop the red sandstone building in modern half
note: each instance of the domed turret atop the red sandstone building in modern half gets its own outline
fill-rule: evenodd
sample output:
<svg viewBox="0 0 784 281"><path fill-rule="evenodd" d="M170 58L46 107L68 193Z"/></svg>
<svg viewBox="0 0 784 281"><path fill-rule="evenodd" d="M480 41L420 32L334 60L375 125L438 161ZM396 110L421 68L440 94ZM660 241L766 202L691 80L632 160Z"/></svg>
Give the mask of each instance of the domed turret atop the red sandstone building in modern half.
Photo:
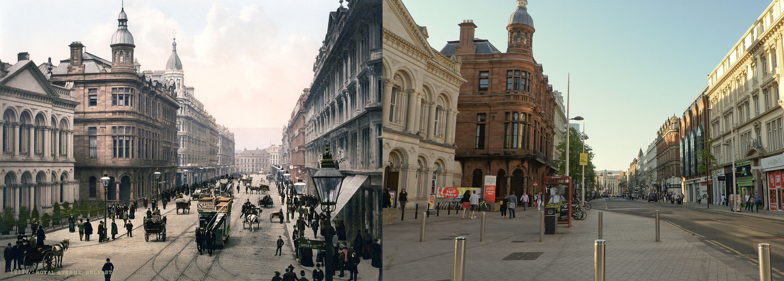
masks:
<svg viewBox="0 0 784 281"><path fill-rule="evenodd" d="M528 5L528 1L517 0L517 10L509 16L509 24L506 25L506 31L509 31L509 45L506 52L533 54L531 45L535 31L534 20L531 15L528 15L525 5Z"/></svg>

